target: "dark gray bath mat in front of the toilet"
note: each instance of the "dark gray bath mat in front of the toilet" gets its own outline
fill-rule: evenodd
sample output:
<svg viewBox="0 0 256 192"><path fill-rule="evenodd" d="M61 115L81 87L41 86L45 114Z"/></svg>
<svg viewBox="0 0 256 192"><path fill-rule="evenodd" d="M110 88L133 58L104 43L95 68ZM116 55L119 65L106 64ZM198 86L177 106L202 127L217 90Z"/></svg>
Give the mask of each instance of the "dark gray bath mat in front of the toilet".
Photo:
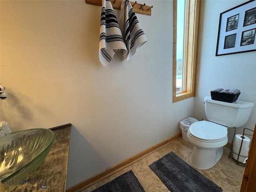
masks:
<svg viewBox="0 0 256 192"><path fill-rule="evenodd" d="M222 188L174 152L166 154L149 167L172 192L222 192Z"/></svg>

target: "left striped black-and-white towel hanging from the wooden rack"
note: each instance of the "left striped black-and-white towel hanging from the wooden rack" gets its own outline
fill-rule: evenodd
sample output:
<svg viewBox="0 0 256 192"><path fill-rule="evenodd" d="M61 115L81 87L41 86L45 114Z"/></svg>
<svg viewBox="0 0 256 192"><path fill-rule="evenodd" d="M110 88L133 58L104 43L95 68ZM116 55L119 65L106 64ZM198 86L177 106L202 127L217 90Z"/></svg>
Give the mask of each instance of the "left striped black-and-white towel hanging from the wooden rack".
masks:
<svg viewBox="0 0 256 192"><path fill-rule="evenodd" d="M99 45L99 58L102 65L108 66L118 50L127 54L126 45L112 4L110 0L102 0Z"/></svg>

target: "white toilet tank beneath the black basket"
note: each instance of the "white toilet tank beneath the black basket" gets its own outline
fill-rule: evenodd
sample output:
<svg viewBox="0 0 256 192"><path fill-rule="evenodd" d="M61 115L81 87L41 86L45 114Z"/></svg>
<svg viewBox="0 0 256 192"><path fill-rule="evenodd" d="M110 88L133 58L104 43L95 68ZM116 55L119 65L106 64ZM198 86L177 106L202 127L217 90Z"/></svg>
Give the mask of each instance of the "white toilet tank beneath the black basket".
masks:
<svg viewBox="0 0 256 192"><path fill-rule="evenodd" d="M212 100L210 96L204 98L205 113L209 121L226 127L241 127L248 121L253 103L235 101L233 103Z"/></svg>

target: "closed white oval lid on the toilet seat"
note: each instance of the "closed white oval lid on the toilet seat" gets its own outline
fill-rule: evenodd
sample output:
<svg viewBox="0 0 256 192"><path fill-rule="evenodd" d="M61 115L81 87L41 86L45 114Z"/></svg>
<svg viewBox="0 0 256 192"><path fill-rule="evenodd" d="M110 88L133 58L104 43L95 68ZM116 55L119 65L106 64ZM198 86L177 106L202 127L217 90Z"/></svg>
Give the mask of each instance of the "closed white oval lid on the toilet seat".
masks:
<svg viewBox="0 0 256 192"><path fill-rule="evenodd" d="M192 123L189 127L189 132L199 139L212 141L223 139L228 134L228 130L225 126L209 121Z"/></svg>

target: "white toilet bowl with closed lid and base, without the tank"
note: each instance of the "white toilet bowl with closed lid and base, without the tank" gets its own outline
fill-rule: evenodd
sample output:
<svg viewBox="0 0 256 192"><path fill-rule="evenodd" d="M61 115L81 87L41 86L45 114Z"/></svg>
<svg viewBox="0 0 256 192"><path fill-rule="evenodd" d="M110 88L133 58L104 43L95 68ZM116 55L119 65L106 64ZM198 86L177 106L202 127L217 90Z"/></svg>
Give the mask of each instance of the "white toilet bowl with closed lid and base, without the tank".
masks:
<svg viewBox="0 0 256 192"><path fill-rule="evenodd" d="M227 127L208 121L193 123L187 132L188 140L194 145L189 158L197 169L213 167L223 154L223 146L228 142Z"/></svg>

